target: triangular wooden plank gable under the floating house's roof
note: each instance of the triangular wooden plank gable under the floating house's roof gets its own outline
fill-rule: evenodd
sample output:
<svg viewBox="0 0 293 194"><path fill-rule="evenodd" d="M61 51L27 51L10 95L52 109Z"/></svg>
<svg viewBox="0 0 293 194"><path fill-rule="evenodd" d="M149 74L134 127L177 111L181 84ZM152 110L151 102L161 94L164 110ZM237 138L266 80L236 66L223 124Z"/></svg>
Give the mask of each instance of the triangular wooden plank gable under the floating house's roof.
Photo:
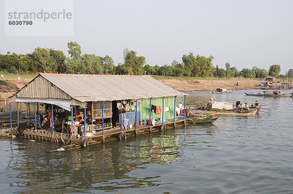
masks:
<svg viewBox="0 0 293 194"><path fill-rule="evenodd" d="M25 86L17 97L23 98L46 98L46 99L71 99L69 95L53 85L47 79L39 76Z"/></svg>

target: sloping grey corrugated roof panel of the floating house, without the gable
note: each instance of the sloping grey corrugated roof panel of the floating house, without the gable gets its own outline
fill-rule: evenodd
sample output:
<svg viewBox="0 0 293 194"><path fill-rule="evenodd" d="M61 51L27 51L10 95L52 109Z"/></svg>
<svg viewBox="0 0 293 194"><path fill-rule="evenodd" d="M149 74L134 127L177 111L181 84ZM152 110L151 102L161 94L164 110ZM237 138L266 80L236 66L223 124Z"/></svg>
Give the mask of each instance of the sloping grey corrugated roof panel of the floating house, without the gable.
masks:
<svg viewBox="0 0 293 194"><path fill-rule="evenodd" d="M150 76L40 75L81 102L186 95Z"/></svg>

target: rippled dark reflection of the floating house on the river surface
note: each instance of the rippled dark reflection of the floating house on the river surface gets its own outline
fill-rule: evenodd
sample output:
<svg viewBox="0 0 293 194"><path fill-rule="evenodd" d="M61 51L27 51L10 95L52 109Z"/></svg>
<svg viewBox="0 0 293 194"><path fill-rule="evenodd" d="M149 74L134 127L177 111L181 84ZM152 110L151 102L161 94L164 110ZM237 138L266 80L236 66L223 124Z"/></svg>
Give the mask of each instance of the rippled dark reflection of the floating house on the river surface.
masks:
<svg viewBox="0 0 293 194"><path fill-rule="evenodd" d="M25 187L33 190L33 193L51 193L52 189L66 193L93 187L114 191L159 186L162 183L154 179L160 176L137 178L127 173L133 169L143 169L141 165L144 164L171 163L179 155L175 131L130 137L125 141L112 141L61 153L45 152L51 144L44 142L31 143L20 139L10 144L7 168L20 172L10 178L22 179L10 186ZM107 185L109 181L111 183Z"/></svg>

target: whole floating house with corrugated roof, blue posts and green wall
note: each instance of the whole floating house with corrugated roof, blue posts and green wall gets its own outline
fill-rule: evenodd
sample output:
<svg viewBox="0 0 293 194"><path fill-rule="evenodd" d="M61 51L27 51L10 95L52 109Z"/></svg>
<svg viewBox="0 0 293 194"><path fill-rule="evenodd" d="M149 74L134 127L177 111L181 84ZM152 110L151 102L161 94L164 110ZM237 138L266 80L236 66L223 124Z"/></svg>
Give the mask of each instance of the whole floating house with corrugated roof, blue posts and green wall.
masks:
<svg viewBox="0 0 293 194"><path fill-rule="evenodd" d="M186 94L150 76L41 73L9 97L8 102L10 107L11 103L16 102L18 112L18 103L34 104L34 129L25 129L21 133L51 140L55 135L56 139L71 139L82 144L85 140L88 142L88 139L98 137L104 141L105 136L125 136L127 128L127 132L135 133L140 127L151 130L151 125L164 126L166 120L172 119L175 125L177 96L186 97ZM62 113L63 117L59 117L61 133L56 132L54 121L51 122L50 132L41 128L39 104L47 105L51 118ZM17 115L19 125L19 113ZM76 136L76 129L73 129L77 127L75 119L78 117L84 121L82 126L79 123L83 132L80 136Z"/></svg>

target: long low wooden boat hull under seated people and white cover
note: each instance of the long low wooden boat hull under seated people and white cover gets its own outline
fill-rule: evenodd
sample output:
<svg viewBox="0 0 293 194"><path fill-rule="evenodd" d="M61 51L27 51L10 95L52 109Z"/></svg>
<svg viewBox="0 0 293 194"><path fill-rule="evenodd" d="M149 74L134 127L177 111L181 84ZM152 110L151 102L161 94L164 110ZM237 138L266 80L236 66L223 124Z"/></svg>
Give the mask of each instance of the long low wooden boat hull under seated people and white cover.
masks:
<svg viewBox="0 0 293 194"><path fill-rule="evenodd" d="M232 110L215 110L212 109L210 111L205 111L205 110L192 110L191 111L192 114L212 114L215 113L216 116L219 115L226 115L226 116L230 116L230 115L238 115L238 116L251 116L254 115L258 112L257 108L251 109L251 110L240 110L240 109L232 109Z"/></svg>

